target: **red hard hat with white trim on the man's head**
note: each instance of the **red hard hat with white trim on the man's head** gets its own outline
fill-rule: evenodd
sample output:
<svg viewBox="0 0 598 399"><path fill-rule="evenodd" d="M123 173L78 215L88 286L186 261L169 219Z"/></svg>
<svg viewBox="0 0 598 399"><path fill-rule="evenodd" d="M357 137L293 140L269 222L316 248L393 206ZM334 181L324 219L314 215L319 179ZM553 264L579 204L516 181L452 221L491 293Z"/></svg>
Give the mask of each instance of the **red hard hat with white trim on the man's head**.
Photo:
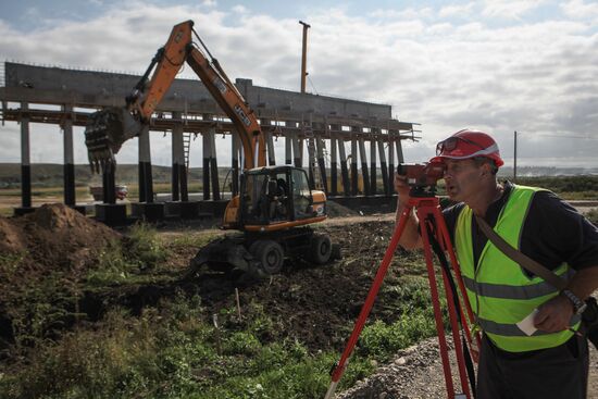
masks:
<svg viewBox="0 0 598 399"><path fill-rule="evenodd" d="M436 157L429 162L443 162L445 159L468 160L485 157L495 161L497 167L504 164L498 145L488 134L479 130L459 130L436 145Z"/></svg>

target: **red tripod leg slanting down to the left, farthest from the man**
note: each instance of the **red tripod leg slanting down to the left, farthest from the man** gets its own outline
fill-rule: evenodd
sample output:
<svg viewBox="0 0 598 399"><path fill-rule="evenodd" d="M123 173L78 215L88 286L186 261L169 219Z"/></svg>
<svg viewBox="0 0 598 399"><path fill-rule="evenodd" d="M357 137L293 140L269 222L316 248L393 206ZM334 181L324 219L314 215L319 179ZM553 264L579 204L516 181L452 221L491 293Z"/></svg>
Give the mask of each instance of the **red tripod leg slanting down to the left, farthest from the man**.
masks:
<svg viewBox="0 0 598 399"><path fill-rule="evenodd" d="M347 347L345 348L345 351L342 352L342 356L340 357L340 360L338 361L338 364L332 372L332 382L328 387L328 391L326 392L325 399L332 398L336 388L336 385L340 381L340 377L342 376L342 373L345 372L345 367L347 366L347 361L349 360L349 357L351 356L351 352L353 351L353 348L357 344L357 340L359 338L359 335L361 334L361 331L363 329L363 326L365 325L365 321L367 320L367 316L370 315L370 311L372 310L372 307L374 306L374 301L376 299L376 296L378 294L379 287L382 286L382 282L384 280L384 276L386 275L386 272L388 271L388 266L390 265L390 261L393 260L393 257L395 255L395 250L397 249L397 246L399 245L399 240L401 238L401 235L404 230L404 226L407 225L407 222L409 220L409 215L411 213L413 207L406 205L401 217L399 220L399 223L397 227L395 228L395 233L393 234L393 238L390 239L390 244L388 245L388 248L386 249L386 252L384 254L384 258L382 260L382 263L378 267L378 271L376 272L376 276L374 277L374 283L372 284L372 287L370 288L370 291L367 292L367 297L365 298L365 302L363 303L363 307L361 308L361 312L359 313L358 320L356 322L356 325L353 327L353 332L351 333L351 336L349 337L349 340L347 342Z"/></svg>

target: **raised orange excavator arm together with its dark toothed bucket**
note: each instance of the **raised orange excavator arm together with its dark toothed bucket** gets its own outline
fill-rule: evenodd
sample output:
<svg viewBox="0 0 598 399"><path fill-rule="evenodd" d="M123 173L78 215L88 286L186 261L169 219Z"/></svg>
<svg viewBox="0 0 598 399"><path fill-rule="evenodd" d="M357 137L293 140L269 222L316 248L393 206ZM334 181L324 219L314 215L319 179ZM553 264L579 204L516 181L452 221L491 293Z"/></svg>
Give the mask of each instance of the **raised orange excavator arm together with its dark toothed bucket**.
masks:
<svg viewBox="0 0 598 399"><path fill-rule="evenodd" d="M139 136L149 125L152 113L185 62L235 126L244 149L245 169L265 165L264 136L253 111L192 26L192 21L186 21L173 27L164 47L158 50L139 83L126 97L126 107L107 108L89 116L85 142L92 171L99 173L114 165L114 154L121 146ZM192 35L199 43L192 41Z"/></svg>

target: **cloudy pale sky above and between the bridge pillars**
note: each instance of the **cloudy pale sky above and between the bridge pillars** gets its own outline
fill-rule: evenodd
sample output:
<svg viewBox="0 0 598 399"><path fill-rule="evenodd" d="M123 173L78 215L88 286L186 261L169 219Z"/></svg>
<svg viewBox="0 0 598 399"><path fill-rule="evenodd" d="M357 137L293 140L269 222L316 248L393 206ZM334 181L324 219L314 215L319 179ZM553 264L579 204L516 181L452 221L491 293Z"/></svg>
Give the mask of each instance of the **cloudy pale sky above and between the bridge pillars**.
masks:
<svg viewBox="0 0 598 399"><path fill-rule="evenodd" d="M0 60L140 74L186 20L231 78L291 90L298 21L308 22L308 90L391 104L395 117L421 123L422 140L404 145L408 161L427 160L436 141L474 127L497 138L507 165L518 130L519 165L598 167L593 0L2 1ZM0 162L20 161L18 132L0 126ZM169 137L151 139L153 162L170 164ZM135 146L119 162L135 163ZM86 162L82 130L75 151ZM61 160L60 129L33 126L32 162Z"/></svg>

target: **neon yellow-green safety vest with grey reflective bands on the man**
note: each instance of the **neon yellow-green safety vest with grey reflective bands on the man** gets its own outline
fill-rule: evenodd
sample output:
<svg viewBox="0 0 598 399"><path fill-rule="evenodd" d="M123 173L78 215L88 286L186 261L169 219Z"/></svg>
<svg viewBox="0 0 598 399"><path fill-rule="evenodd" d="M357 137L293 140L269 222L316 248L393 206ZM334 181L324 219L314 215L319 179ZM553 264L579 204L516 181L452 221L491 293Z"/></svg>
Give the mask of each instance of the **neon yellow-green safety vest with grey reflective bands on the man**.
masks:
<svg viewBox="0 0 598 399"><path fill-rule="evenodd" d="M513 186L494 227L496 233L516 249L520 249L521 233L532 198L538 190ZM540 277L530 278L518 263L489 240L475 267L472 217L472 210L463 207L457 219L454 248L468 298L482 329L497 347L511 352L551 348L565 342L572 337L572 332L536 332L526 336L519 329L516 323L557 296L558 289ZM563 278L570 278L574 274L566 264L560 265L553 272ZM578 324L580 317L571 320L571 326L577 327Z"/></svg>

